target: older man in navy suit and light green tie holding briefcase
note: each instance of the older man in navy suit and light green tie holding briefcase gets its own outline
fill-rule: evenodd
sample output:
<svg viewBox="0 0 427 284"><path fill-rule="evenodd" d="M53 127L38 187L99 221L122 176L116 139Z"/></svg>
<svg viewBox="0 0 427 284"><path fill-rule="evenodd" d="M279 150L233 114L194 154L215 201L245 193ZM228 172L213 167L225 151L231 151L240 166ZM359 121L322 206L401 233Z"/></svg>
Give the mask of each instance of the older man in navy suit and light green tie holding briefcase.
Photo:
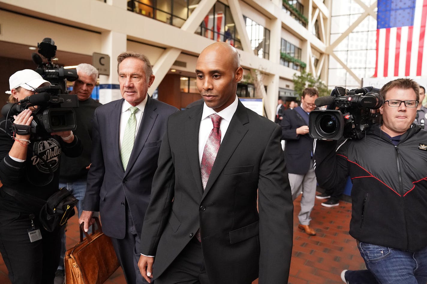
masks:
<svg viewBox="0 0 427 284"><path fill-rule="evenodd" d="M147 90L155 77L145 55L123 52L117 61L123 99L104 104L95 111L92 164L79 222L85 223L87 232L94 222L93 212L99 211L102 230L111 237L126 282L146 283L137 267L136 247L139 247L167 118L177 109L148 96ZM131 119L132 116L135 119ZM129 139L126 128L131 120L136 123L135 135L132 131ZM123 147L132 139L135 140L133 147L131 144L127 152L130 156L124 159Z"/></svg>

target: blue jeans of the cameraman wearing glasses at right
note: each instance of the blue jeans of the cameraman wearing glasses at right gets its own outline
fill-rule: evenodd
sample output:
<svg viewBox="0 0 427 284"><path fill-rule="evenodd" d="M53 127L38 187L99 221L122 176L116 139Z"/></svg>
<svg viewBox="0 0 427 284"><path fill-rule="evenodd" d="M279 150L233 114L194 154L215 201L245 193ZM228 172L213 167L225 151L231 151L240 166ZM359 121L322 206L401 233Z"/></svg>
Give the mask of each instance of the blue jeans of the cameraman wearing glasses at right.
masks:
<svg viewBox="0 0 427 284"><path fill-rule="evenodd" d="M360 255L366 267L380 284L426 284L427 283L427 247L417 252L404 252L386 246L377 246L370 243L358 243ZM350 272L350 271L349 271ZM356 279L355 272L367 275L366 270L346 273L349 283L363 283L352 281ZM366 284L376 283L374 281Z"/></svg>

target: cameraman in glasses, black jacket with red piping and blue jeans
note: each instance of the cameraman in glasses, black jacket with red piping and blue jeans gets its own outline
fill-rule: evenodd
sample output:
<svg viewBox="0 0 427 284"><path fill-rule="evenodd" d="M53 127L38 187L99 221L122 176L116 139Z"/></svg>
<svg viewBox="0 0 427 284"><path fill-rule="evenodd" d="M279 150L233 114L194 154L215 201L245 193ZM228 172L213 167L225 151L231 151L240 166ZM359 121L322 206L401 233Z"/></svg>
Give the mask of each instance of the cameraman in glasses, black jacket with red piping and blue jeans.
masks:
<svg viewBox="0 0 427 284"><path fill-rule="evenodd" d="M319 185L349 175L350 235L368 270L344 270L346 283L427 283L427 132L413 124L418 84L406 78L380 90L382 125L362 139L315 140ZM337 147L338 146L338 147Z"/></svg>

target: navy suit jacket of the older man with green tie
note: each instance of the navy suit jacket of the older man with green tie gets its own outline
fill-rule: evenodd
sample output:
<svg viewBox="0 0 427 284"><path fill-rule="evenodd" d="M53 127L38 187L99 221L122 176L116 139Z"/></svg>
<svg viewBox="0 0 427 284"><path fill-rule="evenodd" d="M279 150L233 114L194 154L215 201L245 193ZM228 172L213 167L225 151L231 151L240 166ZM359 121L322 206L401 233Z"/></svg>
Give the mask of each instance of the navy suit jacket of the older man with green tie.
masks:
<svg viewBox="0 0 427 284"><path fill-rule="evenodd" d="M119 148L123 101L112 101L95 110L92 165L83 201L83 210L100 212L103 232L118 239L126 234L125 200L137 232L142 229L167 118L177 111L175 107L148 96L125 171Z"/></svg>

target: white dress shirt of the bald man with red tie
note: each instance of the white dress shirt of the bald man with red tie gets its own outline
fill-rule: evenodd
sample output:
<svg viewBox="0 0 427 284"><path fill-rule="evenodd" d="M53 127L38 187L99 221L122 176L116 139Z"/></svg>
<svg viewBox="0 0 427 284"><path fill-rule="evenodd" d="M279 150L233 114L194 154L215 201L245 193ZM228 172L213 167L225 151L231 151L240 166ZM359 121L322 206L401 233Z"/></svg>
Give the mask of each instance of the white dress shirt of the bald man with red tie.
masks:
<svg viewBox="0 0 427 284"><path fill-rule="evenodd" d="M208 141L208 136L211 134L213 128L212 120L209 116L211 114L217 114L222 117L221 124L219 125L222 142L222 139L224 139L225 133L227 132L228 125L230 125L231 118L237 110L238 102L239 100L236 96L236 99L234 99L234 101L228 107L218 113L212 108L208 107L206 103L203 103L202 121L200 122L199 128L199 164L202 163L203 150L205 149L206 141Z"/></svg>

